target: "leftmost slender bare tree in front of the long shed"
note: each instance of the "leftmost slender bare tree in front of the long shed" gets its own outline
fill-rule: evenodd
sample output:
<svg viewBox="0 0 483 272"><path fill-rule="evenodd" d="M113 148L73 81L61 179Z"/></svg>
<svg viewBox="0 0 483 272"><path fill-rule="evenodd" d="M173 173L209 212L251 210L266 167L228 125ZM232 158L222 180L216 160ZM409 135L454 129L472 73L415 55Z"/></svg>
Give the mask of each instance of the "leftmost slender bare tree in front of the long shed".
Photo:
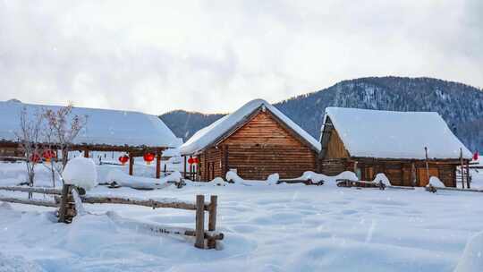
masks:
<svg viewBox="0 0 483 272"><path fill-rule="evenodd" d="M24 106L21 109L20 131L15 132L25 156L29 186L34 184L35 165L41 159L38 151L42 121L43 116L40 113L29 115L27 108Z"/></svg>

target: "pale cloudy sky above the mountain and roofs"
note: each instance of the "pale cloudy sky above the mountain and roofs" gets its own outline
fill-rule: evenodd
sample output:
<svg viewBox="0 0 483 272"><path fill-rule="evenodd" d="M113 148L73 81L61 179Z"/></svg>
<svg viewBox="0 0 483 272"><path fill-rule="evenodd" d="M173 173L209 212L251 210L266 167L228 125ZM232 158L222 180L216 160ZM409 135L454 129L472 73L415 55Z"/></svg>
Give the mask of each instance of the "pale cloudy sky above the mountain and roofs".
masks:
<svg viewBox="0 0 483 272"><path fill-rule="evenodd" d="M0 100L230 112L383 75L483 87L483 1L0 0Z"/></svg>

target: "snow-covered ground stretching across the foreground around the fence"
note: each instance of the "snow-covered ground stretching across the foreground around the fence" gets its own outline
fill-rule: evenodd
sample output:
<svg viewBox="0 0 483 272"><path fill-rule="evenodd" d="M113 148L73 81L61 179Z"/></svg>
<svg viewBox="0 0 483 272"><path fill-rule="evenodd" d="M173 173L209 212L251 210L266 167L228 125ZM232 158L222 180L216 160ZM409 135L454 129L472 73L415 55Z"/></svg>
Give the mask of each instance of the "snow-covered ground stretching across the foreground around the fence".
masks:
<svg viewBox="0 0 483 272"><path fill-rule="evenodd" d="M225 240L218 251L202 251L193 241L148 234L106 214L193 227L191 211L86 204L89 215L64 225L55 223L53 208L3 203L0 271L453 271L460 259L478 266L475 258L483 258L462 258L470 237L483 231L483 194L476 192L188 183L88 193L189 201L216 194ZM474 242L469 248L480 249Z"/></svg>

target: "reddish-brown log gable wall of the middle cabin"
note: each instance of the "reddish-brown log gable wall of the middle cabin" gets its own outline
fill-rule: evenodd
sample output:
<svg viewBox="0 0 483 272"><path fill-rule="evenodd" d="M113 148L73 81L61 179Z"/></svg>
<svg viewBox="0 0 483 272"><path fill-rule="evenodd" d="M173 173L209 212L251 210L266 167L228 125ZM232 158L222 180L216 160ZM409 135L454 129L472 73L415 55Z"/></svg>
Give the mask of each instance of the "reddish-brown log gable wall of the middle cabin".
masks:
<svg viewBox="0 0 483 272"><path fill-rule="evenodd" d="M317 152L262 111L200 158L201 181L214 178L208 170L211 164L215 165L215 177L225 178L227 171L236 169L244 179L266 180L274 173L280 178L299 177L305 171L315 171L318 163Z"/></svg>

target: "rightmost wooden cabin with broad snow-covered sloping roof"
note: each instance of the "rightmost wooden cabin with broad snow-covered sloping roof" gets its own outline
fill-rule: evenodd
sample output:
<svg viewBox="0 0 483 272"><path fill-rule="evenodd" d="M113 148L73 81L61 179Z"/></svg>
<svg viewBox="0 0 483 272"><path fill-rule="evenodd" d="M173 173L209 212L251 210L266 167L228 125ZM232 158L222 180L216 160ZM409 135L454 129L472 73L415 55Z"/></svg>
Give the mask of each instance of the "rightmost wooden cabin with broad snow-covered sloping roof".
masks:
<svg viewBox="0 0 483 272"><path fill-rule="evenodd" d="M322 174L353 171L372 181L383 173L401 186L426 186L436 176L456 187L470 178L470 151L434 112L327 107L320 143Z"/></svg>

